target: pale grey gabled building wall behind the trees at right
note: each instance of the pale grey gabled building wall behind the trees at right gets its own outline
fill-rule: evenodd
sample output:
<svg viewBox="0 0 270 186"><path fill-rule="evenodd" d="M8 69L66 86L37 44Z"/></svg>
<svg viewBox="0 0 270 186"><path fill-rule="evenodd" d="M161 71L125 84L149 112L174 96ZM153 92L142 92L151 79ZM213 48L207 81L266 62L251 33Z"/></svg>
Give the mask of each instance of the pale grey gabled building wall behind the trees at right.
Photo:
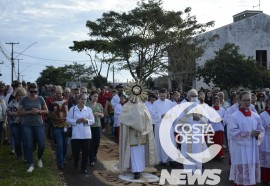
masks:
<svg viewBox="0 0 270 186"><path fill-rule="evenodd" d="M202 57L197 60L198 65L214 58L226 43L239 46L239 52L246 57L252 56L256 61L270 70L270 16L262 11L246 10L233 16L234 23L206 32L197 37L209 38L215 34L219 39L210 43ZM226 70L226 69L224 69ZM195 78L194 78L195 79ZM200 89L208 86L196 80L194 88Z"/></svg>

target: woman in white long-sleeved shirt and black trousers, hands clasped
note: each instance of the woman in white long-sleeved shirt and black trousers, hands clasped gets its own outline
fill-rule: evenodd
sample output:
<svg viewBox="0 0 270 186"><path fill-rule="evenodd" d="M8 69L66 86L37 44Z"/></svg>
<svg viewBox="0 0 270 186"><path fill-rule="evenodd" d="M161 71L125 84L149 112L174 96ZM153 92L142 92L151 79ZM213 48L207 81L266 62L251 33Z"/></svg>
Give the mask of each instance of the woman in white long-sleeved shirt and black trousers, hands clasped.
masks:
<svg viewBox="0 0 270 186"><path fill-rule="evenodd" d="M92 138L90 125L95 123L92 109L85 106L87 95L79 96L78 104L71 107L67 122L72 126L71 146L74 156L74 169L78 168L80 151L82 151L81 172L87 173L89 143Z"/></svg>

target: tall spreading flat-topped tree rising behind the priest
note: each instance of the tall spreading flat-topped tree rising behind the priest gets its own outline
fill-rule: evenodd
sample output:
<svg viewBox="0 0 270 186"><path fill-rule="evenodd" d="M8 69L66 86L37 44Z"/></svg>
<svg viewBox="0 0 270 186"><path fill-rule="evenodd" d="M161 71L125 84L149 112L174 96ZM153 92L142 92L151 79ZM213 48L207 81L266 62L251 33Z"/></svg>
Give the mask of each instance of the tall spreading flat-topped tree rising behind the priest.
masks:
<svg viewBox="0 0 270 186"><path fill-rule="evenodd" d="M164 74L169 47L205 32L214 22L199 24L190 15L191 8L184 13L165 11L162 4L161 0L141 1L128 13L103 13L96 21L87 21L90 39L73 41L70 49L106 54L106 61L118 62L119 69L129 70L134 79Z"/></svg>

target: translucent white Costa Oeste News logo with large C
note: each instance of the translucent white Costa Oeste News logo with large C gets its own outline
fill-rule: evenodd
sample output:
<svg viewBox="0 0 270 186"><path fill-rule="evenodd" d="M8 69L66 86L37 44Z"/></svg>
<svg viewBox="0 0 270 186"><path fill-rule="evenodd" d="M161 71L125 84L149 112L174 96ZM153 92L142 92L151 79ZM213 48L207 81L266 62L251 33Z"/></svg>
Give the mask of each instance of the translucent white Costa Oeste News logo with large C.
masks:
<svg viewBox="0 0 270 186"><path fill-rule="evenodd" d="M197 119L194 120L194 117ZM159 128L161 147L171 159L183 165L206 163L213 159L222 148L218 144L213 144L214 129L209 122L217 123L221 120L220 115L206 104L186 102L176 105L165 114L161 121ZM173 137L172 127L177 133ZM207 143L212 144L209 147L205 144L205 134L208 134ZM176 143L180 143L182 146L197 144L202 147L202 150L198 153L185 150L183 155L176 148ZM205 169L203 172L201 169L195 171L172 169L171 173L162 169L159 184L164 185L167 180L169 185L194 185L197 180L199 185L217 185L220 182L220 174L220 169Z"/></svg>

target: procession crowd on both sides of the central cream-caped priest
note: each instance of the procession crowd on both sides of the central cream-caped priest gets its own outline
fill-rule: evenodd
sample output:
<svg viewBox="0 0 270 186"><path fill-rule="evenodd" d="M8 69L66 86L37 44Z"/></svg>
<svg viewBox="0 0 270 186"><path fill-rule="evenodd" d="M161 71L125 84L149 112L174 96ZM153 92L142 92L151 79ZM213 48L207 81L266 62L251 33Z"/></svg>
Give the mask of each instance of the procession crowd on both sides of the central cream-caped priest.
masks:
<svg viewBox="0 0 270 186"><path fill-rule="evenodd" d="M226 93L226 94L225 94ZM226 96L225 96L226 95ZM225 100L225 97L228 99ZM263 91L195 90L168 92L162 88L149 91L148 99L141 100L149 112L154 133L154 144L158 162L172 166L172 160L160 143L160 124L165 114L174 106L194 103L179 115L175 123L204 123L214 130L213 141L222 148L215 158L224 159L224 148L229 149L231 163L230 180L235 185L255 185L270 182L270 89ZM34 149L37 149L37 165L42 168L42 155L46 137L56 144L59 169L64 169L67 147L71 144L74 168L87 173L87 167L95 167L102 133L106 132L121 145L121 115L129 100L124 86L115 88L102 86L87 89L70 89L57 85L40 88L35 83L22 84L14 81L11 86L0 85L0 139L10 145L11 154L28 163L27 172L34 170ZM222 118L211 122L201 114L188 115L197 105L213 108ZM8 126L8 127L7 127ZM46 129L45 129L46 128ZM72 134L67 135L72 129ZM4 129L4 131L2 131ZM9 131L9 132L8 132ZM201 133L201 130L197 130ZM171 139L176 133L171 130ZM192 139L191 139L192 140ZM181 141L181 140L179 140ZM172 143L188 158L189 153L199 153L207 148L205 140L199 143ZM135 161L135 160L134 160ZM184 169L195 172L202 170L202 163L191 160L193 165ZM120 163L121 164L121 163ZM135 171L138 179L138 171Z"/></svg>

